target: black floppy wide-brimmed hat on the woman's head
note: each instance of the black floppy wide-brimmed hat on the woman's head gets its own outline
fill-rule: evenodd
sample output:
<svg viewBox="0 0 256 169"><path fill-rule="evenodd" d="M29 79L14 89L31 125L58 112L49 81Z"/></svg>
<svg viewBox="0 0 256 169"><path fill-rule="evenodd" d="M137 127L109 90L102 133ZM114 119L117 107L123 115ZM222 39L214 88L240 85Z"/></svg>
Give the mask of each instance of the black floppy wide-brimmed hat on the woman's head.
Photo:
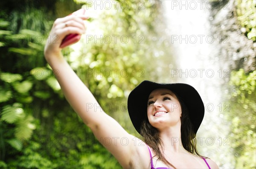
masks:
<svg viewBox="0 0 256 169"><path fill-rule="evenodd" d="M137 132L140 133L141 123L148 118L148 97L154 89L159 88L169 89L183 100L196 134L204 118L204 103L196 89L185 83L155 83L148 80L140 83L128 96L128 113Z"/></svg>

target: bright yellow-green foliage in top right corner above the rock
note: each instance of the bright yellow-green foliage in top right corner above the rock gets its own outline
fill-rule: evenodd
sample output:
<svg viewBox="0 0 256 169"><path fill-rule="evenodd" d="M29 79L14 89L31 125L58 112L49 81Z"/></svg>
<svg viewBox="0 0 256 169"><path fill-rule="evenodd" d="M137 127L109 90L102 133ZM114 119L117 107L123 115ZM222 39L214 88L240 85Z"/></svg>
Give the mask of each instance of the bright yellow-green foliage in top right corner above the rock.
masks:
<svg viewBox="0 0 256 169"><path fill-rule="evenodd" d="M256 3L255 0L236 0L237 19L245 28L248 39L256 41Z"/></svg>

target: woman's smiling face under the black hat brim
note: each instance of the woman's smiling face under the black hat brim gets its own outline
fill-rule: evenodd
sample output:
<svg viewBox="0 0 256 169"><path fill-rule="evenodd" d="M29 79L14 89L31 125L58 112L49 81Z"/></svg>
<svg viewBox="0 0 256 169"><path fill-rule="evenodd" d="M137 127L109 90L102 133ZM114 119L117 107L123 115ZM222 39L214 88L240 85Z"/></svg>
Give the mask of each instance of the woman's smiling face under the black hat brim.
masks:
<svg viewBox="0 0 256 169"><path fill-rule="evenodd" d="M157 129L181 126L181 106L169 89L155 89L148 97L148 121Z"/></svg>

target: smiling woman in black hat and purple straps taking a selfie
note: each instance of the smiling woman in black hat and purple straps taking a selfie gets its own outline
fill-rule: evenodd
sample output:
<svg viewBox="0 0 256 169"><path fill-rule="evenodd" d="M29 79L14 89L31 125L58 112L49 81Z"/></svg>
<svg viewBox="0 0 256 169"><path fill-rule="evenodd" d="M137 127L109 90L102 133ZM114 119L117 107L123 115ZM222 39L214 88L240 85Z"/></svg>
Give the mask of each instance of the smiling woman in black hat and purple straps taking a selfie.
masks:
<svg viewBox="0 0 256 169"><path fill-rule="evenodd" d="M86 19L77 14L55 20L44 55L52 69L58 69L56 78L76 113L98 140L111 139L112 144L103 141L102 145L123 168L218 168L209 158L199 156L193 144L204 117L204 105L192 86L144 81L131 92L128 112L144 142L98 109L99 103L64 60L60 48L68 34L85 33ZM87 109L87 103L97 109Z"/></svg>

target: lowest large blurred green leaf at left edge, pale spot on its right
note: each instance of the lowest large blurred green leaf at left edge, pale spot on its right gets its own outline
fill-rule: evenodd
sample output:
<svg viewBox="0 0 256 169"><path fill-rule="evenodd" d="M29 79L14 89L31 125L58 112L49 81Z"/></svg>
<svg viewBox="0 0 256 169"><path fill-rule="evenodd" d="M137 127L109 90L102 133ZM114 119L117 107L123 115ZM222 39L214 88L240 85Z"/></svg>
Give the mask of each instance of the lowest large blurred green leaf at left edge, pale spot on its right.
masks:
<svg viewBox="0 0 256 169"><path fill-rule="evenodd" d="M1 120L6 121L7 123L14 123L19 118L24 117L24 110L21 107L20 103L14 103L13 105L3 106L1 113Z"/></svg>

